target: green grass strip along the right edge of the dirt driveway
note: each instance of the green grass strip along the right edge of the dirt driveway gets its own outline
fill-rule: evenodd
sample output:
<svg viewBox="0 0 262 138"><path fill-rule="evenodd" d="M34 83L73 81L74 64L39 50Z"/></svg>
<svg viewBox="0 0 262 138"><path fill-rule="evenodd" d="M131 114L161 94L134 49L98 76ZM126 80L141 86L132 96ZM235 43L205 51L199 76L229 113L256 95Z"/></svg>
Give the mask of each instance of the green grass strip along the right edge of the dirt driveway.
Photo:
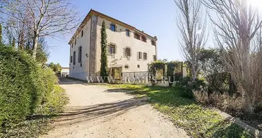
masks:
<svg viewBox="0 0 262 138"><path fill-rule="evenodd" d="M135 85L108 85L110 88L130 90L137 97L150 97L150 103L169 115L174 125L180 126L192 137L254 137L243 128L225 121L221 115L192 99L179 95L178 88Z"/></svg>

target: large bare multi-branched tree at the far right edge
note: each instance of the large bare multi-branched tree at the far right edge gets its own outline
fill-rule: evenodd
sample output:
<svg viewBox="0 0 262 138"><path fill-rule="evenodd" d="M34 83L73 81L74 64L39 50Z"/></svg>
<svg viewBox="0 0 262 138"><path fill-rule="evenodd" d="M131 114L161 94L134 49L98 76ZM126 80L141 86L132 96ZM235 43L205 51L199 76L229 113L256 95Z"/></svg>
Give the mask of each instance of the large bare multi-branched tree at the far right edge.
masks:
<svg viewBox="0 0 262 138"><path fill-rule="evenodd" d="M247 0L203 0L218 19L214 23L215 37L224 50L223 59L237 90L242 95L243 110L254 111L255 102L261 98L261 30L259 11L248 5Z"/></svg>

